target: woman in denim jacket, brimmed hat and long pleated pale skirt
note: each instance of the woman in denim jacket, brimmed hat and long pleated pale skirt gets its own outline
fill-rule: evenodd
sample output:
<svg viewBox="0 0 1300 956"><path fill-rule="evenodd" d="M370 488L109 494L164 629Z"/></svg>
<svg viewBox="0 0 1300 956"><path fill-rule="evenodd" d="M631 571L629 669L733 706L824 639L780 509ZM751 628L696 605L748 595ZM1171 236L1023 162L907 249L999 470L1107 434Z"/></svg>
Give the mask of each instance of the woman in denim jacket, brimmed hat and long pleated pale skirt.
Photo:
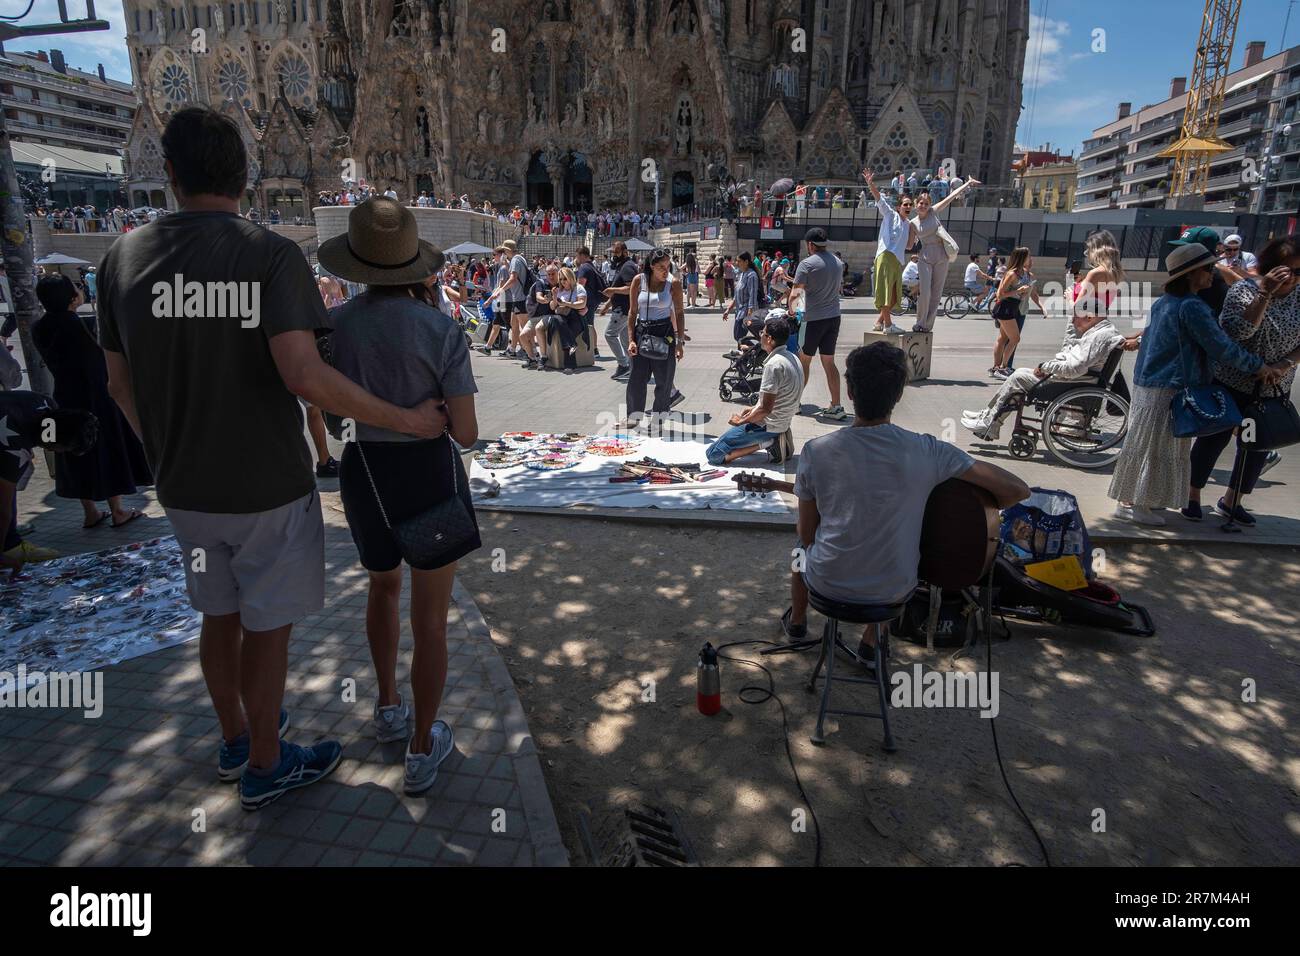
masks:
<svg viewBox="0 0 1300 956"><path fill-rule="evenodd" d="M1119 502L1115 516L1162 525L1158 509L1182 507L1191 481L1192 438L1174 437L1174 397L1214 380L1213 363L1265 380L1277 377L1258 355L1234 342L1196 293L1209 286L1214 254L1197 243L1169 254L1165 294L1150 308L1134 367L1128 434L1115 463L1108 494ZM1156 510L1153 510L1156 509Z"/></svg>

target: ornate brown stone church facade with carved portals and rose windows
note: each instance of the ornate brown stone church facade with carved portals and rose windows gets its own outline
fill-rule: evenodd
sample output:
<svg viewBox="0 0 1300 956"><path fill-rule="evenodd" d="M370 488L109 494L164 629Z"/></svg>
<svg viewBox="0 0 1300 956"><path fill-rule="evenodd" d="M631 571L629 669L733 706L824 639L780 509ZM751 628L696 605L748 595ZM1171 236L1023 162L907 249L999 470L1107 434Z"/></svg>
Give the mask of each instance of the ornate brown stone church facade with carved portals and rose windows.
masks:
<svg viewBox="0 0 1300 956"><path fill-rule="evenodd" d="M706 199L722 170L1010 176L1028 0L124 0L142 107L133 204L172 206L159 137L244 131L250 203L364 179L567 208Z"/></svg>

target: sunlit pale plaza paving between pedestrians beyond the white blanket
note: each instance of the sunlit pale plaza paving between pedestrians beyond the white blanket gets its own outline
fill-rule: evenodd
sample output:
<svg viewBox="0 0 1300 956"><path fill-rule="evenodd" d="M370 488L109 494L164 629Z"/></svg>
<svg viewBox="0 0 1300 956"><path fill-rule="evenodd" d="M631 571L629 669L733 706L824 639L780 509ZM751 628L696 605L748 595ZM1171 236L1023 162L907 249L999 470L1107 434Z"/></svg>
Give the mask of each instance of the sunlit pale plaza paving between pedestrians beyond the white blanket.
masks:
<svg viewBox="0 0 1300 956"><path fill-rule="evenodd" d="M844 299L844 326L840 333L838 367L844 371L844 356L855 345L862 343L862 336L875 323L876 313L866 298ZM731 320L720 319L720 310L688 310L686 329L692 341L686 345L685 359L677 365L676 384L685 393L686 401L675 411L681 412L688 424L677 428L694 429L692 437L714 438L727 428L727 419L738 411L738 402L724 402L718 395L718 380L725 368L723 352L732 347ZM598 320L599 321L599 320ZM904 316L904 325L910 326L911 316ZM1121 330L1130 334L1127 323ZM603 329L598 324L598 329ZM1017 365L1035 365L1052 358L1061 347L1063 326L1058 320L1032 313L1024 326L1024 337L1015 356ZM1100 540L1123 541L1204 541L1219 542L1226 537L1214 520L1200 524L1171 515L1165 528L1139 528L1128 522L1112 518L1114 502L1106 497L1110 484L1110 467L1100 471L1069 468L1046 458L1039 444L1037 454L1028 460L1013 458L1006 450L1005 440L1011 428L1008 421L1002 428L1002 444L989 445L974 440L970 432L961 427L963 408L980 408L988 403L1000 382L987 373L992 364L996 332L987 317L967 317L962 320L939 319L935 326L935 347L931 363L931 377L907 388L902 401L894 410L894 421L928 432L953 441L959 447L984 460L993 462L1014 471L1031 486L1063 489L1079 498L1088 531ZM603 342L602 342L603 345ZM602 359L594 368L572 373L556 371L521 371L519 363L498 358L474 356L474 377L478 382L478 421L480 434L491 437L511 429L533 429L545 432L592 432L608 428L621 412L624 388L610 381L614 362L602 349ZM1134 356L1126 355L1123 368L1131 384ZM599 369L599 371L597 371ZM849 407L848 393L842 402ZM826 377L814 362L811 380L803 393L803 412L792 424L796 449L809 438L824 434L845 423L833 423L811 418L811 412L829 403ZM526 411L525 411L526 410ZM688 433L690 433L688 431ZM766 459L757 455L755 460ZM740 464L744 464L740 463ZM790 462L786 471L794 471L797 462ZM1212 484L1206 488L1205 502L1213 505L1218 494L1212 494L1228 477L1232 462L1225 451L1214 472ZM1243 535L1231 536L1249 544L1296 545L1300 544L1300 496L1292 490L1300 483L1300 457L1283 453L1283 460L1260 481L1256 493L1248 498L1248 506L1257 512L1260 523ZM628 515L624 515L628 516ZM637 515L637 518L654 518ZM763 515L685 515L664 514L667 520L733 523L737 520L774 520ZM789 519L776 519L793 522Z"/></svg>

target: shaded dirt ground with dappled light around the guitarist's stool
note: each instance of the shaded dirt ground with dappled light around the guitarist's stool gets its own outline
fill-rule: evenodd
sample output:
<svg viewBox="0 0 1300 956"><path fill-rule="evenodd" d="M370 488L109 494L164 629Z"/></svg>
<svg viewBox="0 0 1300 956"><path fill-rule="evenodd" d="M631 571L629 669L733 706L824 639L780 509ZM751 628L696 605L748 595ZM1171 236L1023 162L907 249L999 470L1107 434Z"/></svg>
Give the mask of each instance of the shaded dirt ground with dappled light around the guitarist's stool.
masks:
<svg viewBox="0 0 1300 956"><path fill-rule="evenodd" d="M706 865L811 864L815 827L796 822L805 803L781 709L737 698L763 675L725 662L724 710L712 718L694 697L705 641L781 640L786 536L568 515L480 520L484 549L462 579L519 688L575 862L580 808L641 799L681 814ZM1300 862L1300 551L1134 546L1109 551L1106 571L1150 610L1154 637L1010 622L1011 637L993 645L1002 757L1052 862ZM952 650L894 646L896 669L975 666L950 662ZM757 648L727 653L755 659ZM814 657L763 661L823 864L1041 864L998 775L988 719L896 710L898 750L887 754L878 721L828 718L827 744L814 747L815 698L803 689ZM1247 679L1254 702L1242 700ZM837 702L870 709L870 688L836 689Z"/></svg>

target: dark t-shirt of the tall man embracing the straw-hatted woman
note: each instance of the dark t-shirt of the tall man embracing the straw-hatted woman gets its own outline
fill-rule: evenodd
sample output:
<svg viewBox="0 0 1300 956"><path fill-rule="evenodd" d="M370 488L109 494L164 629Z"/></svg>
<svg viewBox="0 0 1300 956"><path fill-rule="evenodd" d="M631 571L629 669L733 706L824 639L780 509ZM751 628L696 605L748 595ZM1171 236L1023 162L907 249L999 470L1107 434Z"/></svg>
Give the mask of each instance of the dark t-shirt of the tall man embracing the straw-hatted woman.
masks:
<svg viewBox="0 0 1300 956"><path fill-rule="evenodd" d="M113 243L99 339L131 369L164 507L254 514L316 488L270 339L324 325L302 250L233 212L173 212Z"/></svg>

